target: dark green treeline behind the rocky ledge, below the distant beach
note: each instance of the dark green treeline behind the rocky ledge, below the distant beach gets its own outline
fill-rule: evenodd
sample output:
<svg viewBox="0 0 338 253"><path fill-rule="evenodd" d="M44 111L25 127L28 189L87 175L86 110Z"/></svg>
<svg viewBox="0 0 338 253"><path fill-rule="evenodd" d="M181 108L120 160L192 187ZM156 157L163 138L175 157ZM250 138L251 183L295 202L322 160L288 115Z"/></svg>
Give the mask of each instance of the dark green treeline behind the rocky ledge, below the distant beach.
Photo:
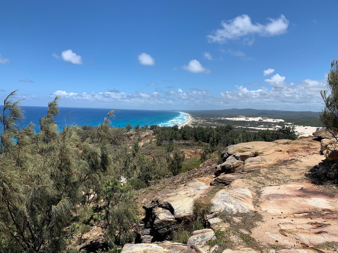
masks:
<svg viewBox="0 0 338 253"><path fill-rule="evenodd" d="M203 127L184 125L182 128L174 126L151 125L150 129L156 136L156 144L162 145L165 142L174 140L194 140L196 142L209 143L212 149L217 145L226 147L241 142L249 141L274 141L278 139L295 140L294 126L281 126L276 130L235 130L232 125Z"/></svg>

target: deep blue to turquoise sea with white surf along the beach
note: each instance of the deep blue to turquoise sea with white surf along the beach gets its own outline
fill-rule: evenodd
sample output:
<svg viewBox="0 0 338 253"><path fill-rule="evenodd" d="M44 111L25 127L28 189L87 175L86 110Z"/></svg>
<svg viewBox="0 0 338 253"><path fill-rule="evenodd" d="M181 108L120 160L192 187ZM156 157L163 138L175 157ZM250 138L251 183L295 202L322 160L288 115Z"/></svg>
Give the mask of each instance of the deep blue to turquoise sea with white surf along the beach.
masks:
<svg viewBox="0 0 338 253"><path fill-rule="evenodd" d="M39 131L39 119L47 114L48 107L22 106L25 111L25 120L22 122L26 126L29 122L35 124L35 131ZM56 117L56 123L59 129L62 129L70 113L67 125L93 125L97 126L103 122L107 117L110 109L97 108L70 108L60 107L60 113ZM175 111L153 111L153 110L118 110L114 119L112 119L112 126L125 128L130 123L131 126L139 125L161 125L172 126L174 124L182 124L189 120L189 115L184 112Z"/></svg>

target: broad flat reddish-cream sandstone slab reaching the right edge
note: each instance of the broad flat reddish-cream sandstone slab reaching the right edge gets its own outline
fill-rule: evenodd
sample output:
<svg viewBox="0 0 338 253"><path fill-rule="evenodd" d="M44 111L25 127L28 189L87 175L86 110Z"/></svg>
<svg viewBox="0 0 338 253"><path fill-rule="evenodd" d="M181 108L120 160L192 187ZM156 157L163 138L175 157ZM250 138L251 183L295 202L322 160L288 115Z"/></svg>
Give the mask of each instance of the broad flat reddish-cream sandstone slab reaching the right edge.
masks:
<svg viewBox="0 0 338 253"><path fill-rule="evenodd" d="M290 215L334 211L338 208L338 196L312 189L311 184L285 184L262 189L261 210L268 213Z"/></svg>

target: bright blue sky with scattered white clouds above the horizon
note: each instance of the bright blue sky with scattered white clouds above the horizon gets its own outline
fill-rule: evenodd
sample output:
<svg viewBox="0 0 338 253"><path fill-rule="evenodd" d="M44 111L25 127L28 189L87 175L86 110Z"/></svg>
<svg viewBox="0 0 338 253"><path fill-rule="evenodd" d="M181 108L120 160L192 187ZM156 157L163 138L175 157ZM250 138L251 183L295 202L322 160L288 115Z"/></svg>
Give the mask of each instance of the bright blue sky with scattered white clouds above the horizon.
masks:
<svg viewBox="0 0 338 253"><path fill-rule="evenodd" d="M0 99L319 111L337 1L5 1Z"/></svg>

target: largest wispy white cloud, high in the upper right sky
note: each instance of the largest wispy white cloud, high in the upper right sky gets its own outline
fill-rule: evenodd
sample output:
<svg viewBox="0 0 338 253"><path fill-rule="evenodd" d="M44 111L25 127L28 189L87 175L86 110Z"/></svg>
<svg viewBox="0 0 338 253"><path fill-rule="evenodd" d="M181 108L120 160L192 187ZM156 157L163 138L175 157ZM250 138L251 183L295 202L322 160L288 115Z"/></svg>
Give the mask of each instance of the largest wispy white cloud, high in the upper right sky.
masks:
<svg viewBox="0 0 338 253"><path fill-rule="evenodd" d="M238 40L245 37L243 42L251 45L254 42L254 35L260 36L276 36L284 34L289 26L289 21L284 15L277 19L268 18L270 21L266 25L260 23L252 23L248 15L237 16L231 20L223 20L221 29L217 29L214 35L208 35L209 42L225 43L229 40ZM252 38L248 38L251 36Z"/></svg>

